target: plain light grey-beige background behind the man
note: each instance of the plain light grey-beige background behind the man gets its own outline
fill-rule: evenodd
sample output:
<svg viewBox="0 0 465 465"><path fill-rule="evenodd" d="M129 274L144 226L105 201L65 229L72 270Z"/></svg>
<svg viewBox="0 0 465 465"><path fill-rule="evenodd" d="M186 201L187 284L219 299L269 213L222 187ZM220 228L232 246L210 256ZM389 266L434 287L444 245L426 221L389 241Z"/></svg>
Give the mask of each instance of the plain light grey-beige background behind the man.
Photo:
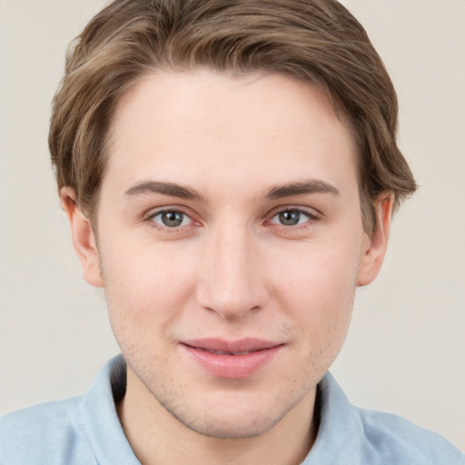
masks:
<svg viewBox="0 0 465 465"><path fill-rule="evenodd" d="M66 45L101 0L0 0L0 414L82 393L118 351L87 285L46 145ZM420 192L358 292L333 374L354 403L465 450L465 1L347 0L391 73Z"/></svg>

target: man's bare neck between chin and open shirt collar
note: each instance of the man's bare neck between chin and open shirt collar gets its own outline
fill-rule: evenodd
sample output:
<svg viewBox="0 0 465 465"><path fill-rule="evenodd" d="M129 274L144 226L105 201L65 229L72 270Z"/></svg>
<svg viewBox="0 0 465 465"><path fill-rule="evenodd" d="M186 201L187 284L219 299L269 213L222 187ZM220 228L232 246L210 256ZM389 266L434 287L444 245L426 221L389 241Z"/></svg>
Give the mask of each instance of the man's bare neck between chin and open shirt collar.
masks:
<svg viewBox="0 0 465 465"><path fill-rule="evenodd" d="M223 439L190 430L166 411L128 369L118 414L135 455L143 465L302 463L316 438L316 388L270 430L251 438Z"/></svg>

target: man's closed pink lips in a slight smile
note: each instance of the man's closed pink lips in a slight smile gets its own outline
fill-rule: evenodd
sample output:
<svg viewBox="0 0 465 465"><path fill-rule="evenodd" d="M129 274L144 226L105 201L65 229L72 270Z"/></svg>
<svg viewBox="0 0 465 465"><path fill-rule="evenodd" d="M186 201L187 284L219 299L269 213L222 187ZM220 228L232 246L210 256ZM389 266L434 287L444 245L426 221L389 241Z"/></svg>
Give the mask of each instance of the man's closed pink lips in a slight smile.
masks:
<svg viewBox="0 0 465 465"><path fill-rule="evenodd" d="M193 361L213 376L239 379L262 369L284 344L261 339L196 339L182 341L181 346Z"/></svg>

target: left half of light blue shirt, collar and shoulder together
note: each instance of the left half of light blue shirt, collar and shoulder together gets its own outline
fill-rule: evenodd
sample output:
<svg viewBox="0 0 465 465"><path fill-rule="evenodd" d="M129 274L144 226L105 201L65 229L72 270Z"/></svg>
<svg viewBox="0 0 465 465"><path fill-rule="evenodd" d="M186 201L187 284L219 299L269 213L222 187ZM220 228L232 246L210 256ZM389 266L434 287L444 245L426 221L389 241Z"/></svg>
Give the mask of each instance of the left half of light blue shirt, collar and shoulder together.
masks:
<svg viewBox="0 0 465 465"><path fill-rule="evenodd" d="M124 396L125 363L108 361L81 397L0 418L0 465L139 464L115 401Z"/></svg>

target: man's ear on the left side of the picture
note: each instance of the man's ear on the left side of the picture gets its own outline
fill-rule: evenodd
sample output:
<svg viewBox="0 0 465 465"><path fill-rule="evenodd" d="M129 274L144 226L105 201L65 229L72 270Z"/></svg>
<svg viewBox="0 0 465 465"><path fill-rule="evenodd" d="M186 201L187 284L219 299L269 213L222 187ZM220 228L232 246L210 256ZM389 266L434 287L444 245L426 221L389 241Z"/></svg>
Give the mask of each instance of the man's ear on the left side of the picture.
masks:
<svg viewBox="0 0 465 465"><path fill-rule="evenodd" d="M94 231L90 221L76 203L74 189L63 187L60 190L60 199L71 225L74 251L81 262L84 280L95 287L104 287Z"/></svg>

